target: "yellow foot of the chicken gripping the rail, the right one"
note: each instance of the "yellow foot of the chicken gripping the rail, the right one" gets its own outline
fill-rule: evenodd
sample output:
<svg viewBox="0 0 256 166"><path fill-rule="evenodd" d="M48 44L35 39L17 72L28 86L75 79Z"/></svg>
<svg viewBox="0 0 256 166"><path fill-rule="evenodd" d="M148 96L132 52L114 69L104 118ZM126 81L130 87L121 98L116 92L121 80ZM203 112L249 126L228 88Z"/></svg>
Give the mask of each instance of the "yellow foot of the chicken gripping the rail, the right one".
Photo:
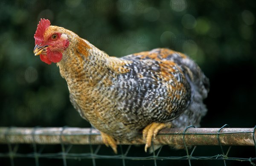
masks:
<svg viewBox="0 0 256 166"><path fill-rule="evenodd" d="M146 140L145 152L147 152L148 147L151 146L152 137L155 139L159 130L166 127L171 127L171 124L153 122L143 129L143 139Z"/></svg>

